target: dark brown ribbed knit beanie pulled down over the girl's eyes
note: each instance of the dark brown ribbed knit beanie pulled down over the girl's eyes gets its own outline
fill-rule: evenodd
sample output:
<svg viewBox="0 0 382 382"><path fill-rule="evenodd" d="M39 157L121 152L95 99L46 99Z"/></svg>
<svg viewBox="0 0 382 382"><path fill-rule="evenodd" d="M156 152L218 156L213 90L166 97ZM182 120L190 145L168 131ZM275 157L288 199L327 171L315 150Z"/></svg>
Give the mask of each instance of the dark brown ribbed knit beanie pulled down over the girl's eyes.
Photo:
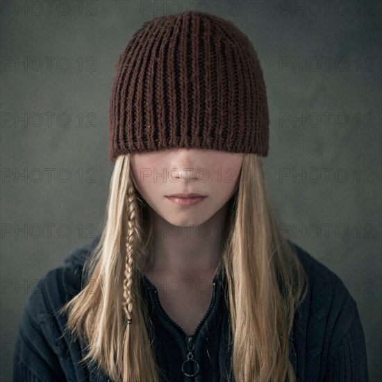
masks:
<svg viewBox="0 0 382 382"><path fill-rule="evenodd" d="M267 156L263 71L232 22L188 10L144 22L119 55L109 157L172 148Z"/></svg>

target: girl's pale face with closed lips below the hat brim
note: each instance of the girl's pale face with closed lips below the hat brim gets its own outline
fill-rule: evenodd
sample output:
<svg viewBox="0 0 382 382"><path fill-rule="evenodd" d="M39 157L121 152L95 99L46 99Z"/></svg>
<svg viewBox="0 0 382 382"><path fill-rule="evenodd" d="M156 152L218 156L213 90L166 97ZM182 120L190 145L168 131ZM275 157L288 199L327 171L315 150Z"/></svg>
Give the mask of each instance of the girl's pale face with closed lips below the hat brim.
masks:
<svg viewBox="0 0 382 382"><path fill-rule="evenodd" d="M131 154L135 185L149 206L169 224L204 224L238 188L242 153L168 149ZM199 198L170 197L200 194Z"/></svg>

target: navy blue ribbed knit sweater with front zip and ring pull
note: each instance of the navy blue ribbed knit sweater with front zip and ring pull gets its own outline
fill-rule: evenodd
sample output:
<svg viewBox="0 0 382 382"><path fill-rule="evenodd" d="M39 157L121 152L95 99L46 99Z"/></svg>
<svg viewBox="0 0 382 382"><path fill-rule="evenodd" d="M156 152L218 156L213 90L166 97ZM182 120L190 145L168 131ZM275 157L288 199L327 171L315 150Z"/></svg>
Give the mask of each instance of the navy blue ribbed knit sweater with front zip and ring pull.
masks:
<svg viewBox="0 0 382 382"><path fill-rule="evenodd" d="M66 321L56 313L80 292L83 263L98 241L99 236L92 244L72 251L63 266L48 272L28 297L15 345L15 382L111 381L94 365L78 364L82 343L70 342L67 334L60 338ZM290 335L289 358L297 381L368 382L365 335L356 302L338 276L296 244L294 247L310 281L310 292L297 310ZM192 336L165 313L156 286L145 276L142 283L161 381L233 381L222 274L214 278L213 299ZM188 354L196 362L184 363ZM185 376L182 365L186 374L195 375Z"/></svg>

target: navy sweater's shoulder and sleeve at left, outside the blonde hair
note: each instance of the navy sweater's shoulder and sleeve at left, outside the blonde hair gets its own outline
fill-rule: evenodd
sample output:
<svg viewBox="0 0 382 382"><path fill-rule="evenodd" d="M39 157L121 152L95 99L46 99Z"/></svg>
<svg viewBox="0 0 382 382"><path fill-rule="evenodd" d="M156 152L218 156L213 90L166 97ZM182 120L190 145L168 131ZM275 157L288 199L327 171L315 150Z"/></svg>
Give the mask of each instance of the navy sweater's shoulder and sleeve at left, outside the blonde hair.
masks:
<svg viewBox="0 0 382 382"><path fill-rule="evenodd" d="M15 344L15 381L37 381L37 375L42 381L65 381L65 373L74 373L71 363L79 354L79 344L69 344L66 319L59 310L81 291L85 259L98 241L70 252L63 265L47 272L28 296Z"/></svg>

